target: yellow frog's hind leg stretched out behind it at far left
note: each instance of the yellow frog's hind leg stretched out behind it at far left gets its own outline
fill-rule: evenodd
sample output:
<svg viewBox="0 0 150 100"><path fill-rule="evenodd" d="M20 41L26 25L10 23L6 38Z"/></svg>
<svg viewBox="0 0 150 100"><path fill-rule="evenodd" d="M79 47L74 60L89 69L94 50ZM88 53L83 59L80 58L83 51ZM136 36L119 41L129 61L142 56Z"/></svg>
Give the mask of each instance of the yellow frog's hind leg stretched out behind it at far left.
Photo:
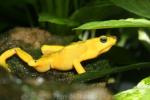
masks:
<svg viewBox="0 0 150 100"><path fill-rule="evenodd" d="M8 64L6 63L6 60L15 54L17 54L19 58L21 58L29 66L33 67L36 66L36 62L32 58L32 56L26 53L25 51L21 50L20 48L12 48L2 53L0 55L0 65L10 71L10 69L8 68Z"/></svg>

